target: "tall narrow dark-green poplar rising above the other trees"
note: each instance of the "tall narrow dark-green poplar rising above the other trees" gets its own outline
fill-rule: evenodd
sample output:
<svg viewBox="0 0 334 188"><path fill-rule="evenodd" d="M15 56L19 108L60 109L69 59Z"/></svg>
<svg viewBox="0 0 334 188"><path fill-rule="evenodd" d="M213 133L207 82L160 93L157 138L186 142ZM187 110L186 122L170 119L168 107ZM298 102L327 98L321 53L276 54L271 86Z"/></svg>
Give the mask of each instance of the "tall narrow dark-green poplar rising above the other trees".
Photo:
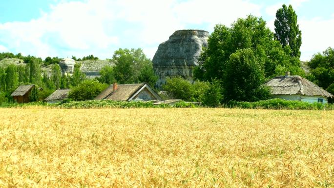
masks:
<svg viewBox="0 0 334 188"><path fill-rule="evenodd" d="M276 12L275 39L282 46L289 45L291 48L291 56L300 58L301 31L297 24L297 15L292 6L287 7L285 4Z"/></svg>

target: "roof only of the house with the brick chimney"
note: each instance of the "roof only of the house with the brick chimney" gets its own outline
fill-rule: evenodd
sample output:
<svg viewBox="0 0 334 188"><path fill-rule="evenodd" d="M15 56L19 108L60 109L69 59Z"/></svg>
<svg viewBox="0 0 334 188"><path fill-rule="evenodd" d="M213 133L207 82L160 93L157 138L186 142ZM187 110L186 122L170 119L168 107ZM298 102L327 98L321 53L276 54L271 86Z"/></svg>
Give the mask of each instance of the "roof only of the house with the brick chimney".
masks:
<svg viewBox="0 0 334 188"><path fill-rule="evenodd" d="M138 94L142 89L147 88L158 100L160 96L149 87L148 84L119 84L117 90L113 92L113 84L109 85L102 93L100 93L95 100L114 100L114 101L130 101L136 94Z"/></svg>

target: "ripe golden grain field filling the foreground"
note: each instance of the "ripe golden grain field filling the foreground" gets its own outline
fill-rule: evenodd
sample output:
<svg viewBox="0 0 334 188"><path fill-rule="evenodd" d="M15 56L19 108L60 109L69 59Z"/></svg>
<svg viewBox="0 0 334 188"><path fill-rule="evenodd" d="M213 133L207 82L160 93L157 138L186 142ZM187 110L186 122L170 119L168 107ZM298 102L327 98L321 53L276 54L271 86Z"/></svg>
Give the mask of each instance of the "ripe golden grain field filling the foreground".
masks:
<svg viewBox="0 0 334 188"><path fill-rule="evenodd" d="M334 111L0 108L1 188L333 186Z"/></svg>

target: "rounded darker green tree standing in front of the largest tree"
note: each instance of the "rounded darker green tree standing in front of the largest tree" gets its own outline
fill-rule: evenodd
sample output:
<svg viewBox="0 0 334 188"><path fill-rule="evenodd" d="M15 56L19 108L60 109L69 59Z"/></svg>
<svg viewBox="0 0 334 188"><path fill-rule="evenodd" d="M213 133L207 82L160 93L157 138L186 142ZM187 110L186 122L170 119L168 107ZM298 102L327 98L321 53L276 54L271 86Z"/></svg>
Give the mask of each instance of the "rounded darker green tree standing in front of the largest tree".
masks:
<svg viewBox="0 0 334 188"><path fill-rule="evenodd" d="M264 82L264 62L252 49L240 49L230 55L225 71L225 101L258 101L268 99L270 90L262 86Z"/></svg>

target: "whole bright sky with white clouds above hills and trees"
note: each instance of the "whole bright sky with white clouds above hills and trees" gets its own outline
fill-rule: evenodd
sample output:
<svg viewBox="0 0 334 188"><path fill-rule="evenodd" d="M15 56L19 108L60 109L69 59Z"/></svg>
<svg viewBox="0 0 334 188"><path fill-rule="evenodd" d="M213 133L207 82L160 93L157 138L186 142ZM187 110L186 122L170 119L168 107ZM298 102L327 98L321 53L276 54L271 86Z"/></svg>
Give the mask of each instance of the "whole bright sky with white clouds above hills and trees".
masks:
<svg viewBox="0 0 334 188"><path fill-rule="evenodd" d="M298 16L302 61L334 47L333 0L0 0L0 52L111 59L119 48L142 48L152 59L176 30L211 33L251 14L274 31L282 4Z"/></svg>

